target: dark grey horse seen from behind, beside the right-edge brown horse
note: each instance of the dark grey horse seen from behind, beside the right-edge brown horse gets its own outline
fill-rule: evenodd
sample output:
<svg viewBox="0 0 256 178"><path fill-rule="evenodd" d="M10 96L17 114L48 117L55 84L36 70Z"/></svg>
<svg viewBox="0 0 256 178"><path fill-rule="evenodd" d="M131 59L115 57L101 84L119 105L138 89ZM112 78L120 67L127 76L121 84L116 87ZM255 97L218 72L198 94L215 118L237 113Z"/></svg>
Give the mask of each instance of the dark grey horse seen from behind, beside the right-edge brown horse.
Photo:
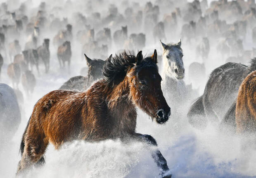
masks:
<svg viewBox="0 0 256 178"><path fill-rule="evenodd" d="M194 127L206 127L208 121L222 121L221 125L235 126L235 100L244 78L256 70L256 59L251 65L228 62L211 72L204 94L197 99L187 113Z"/></svg>

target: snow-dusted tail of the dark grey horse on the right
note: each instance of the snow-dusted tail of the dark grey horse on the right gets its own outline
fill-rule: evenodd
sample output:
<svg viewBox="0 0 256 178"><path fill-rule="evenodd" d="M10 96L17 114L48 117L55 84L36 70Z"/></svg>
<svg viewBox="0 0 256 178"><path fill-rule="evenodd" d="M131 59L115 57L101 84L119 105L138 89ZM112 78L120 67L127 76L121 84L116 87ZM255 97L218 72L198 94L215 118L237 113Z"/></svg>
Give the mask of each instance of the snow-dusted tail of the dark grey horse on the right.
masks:
<svg viewBox="0 0 256 178"><path fill-rule="evenodd" d="M194 127L206 127L206 114L204 111L203 95L190 107L187 113L188 122Z"/></svg>

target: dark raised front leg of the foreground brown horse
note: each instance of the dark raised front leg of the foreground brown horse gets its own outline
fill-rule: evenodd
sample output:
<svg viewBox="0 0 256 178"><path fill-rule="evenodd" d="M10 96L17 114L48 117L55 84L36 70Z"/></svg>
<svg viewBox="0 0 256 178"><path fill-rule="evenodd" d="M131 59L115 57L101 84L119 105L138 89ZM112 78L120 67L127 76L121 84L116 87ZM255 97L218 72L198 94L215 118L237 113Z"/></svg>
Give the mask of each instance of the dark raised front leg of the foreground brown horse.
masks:
<svg viewBox="0 0 256 178"><path fill-rule="evenodd" d="M151 135L142 135L135 133L134 138L138 141L146 142L150 146L157 146L156 140ZM154 149L154 151L152 151L152 157L156 162L157 166L161 169L161 172L159 174L161 178L171 178L171 173L167 166L166 159L161 154L159 149Z"/></svg>

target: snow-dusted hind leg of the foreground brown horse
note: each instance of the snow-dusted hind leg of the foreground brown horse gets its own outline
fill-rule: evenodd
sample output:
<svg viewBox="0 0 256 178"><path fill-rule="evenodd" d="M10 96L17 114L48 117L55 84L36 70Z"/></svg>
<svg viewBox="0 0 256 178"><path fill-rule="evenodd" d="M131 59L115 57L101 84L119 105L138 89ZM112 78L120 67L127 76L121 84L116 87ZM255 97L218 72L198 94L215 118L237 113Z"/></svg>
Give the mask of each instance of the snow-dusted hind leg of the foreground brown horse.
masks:
<svg viewBox="0 0 256 178"><path fill-rule="evenodd" d="M17 174L25 171L33 164L39 166L45 163L43 154L45 153L48 144L49 141L38 133L36 136L32 136L32 138L25 138L24 153L19 162Z"/></svg>

